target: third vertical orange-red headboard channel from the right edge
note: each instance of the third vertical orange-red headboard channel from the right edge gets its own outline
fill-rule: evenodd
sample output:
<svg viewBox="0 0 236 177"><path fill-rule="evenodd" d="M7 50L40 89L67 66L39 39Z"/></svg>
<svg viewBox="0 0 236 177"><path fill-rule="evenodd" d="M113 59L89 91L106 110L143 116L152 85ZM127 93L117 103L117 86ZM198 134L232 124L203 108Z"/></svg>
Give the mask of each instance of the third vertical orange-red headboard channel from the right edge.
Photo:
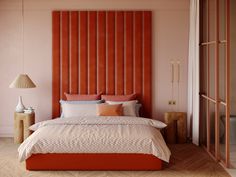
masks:
<svg viewBox="0 0 236 177"><path fill-rule="evenodd" d="M133 12L125 13L125 94L133 93Z"/></svg>

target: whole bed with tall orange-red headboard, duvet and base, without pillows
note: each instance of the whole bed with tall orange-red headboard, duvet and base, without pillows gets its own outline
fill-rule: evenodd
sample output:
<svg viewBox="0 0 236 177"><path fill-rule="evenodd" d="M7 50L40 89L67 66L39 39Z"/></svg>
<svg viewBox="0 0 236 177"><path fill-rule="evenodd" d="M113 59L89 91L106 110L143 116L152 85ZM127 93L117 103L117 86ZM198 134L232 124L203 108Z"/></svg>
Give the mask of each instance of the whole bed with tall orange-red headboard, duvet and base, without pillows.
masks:
<svg viewBox="0 0 236 177"><path fill-rule="evenodd" d="M28 170L160 170L162 161L168 162L170 152L159 130L165 125L159 127L160 122L151 119L151 17L150 11L52 12L53 119L34 125L35 132L19 148L20 160L26 161ZM64 92L135 93L143 118L93 116L89 123L83 116L63 120L59 101L66 99ZM96 141L105 143L107 149L91 149L99 145L93 144L96 141L85 148L86 136L81 145L76 131L87 132L87 140L96 135ZM110 138L103 142L98 135ZM127 139L137 142L127 143ZM63 148L75 140L80 145ZM77 147L85 149L78 151Z"/></svg>

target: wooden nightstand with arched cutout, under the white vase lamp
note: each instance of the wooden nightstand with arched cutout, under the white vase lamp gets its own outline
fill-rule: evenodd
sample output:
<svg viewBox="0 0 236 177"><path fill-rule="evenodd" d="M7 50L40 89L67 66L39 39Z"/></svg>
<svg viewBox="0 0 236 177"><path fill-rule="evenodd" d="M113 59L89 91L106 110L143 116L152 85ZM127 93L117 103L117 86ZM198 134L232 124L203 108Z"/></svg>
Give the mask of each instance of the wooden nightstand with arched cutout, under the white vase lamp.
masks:
<svg viewBox="0 0 236 177"><path fill-rule="evenodd" d="M35 114L18 113L14 114L14 142L22 143L32 132L29 127L35 122Z"/></svg>

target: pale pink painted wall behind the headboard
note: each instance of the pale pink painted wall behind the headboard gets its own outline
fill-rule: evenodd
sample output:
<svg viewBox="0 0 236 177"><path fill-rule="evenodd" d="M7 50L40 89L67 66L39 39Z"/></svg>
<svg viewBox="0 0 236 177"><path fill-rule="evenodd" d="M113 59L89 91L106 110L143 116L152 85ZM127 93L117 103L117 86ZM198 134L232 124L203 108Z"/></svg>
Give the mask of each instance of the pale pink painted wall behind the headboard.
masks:
<svg viewBox="0 0 236 177"><path fill-rule="evenodd" d="M37 88L9 89L22 72L21 1L0 1L0 136L13 135L13 114L18 95L26 106L36 109L36 121L51 116L51 11L55 9L148 9L153 11L153 115L163 119L172 109L187 109L187 56L189 0L25 0L25 72ZM174 108L171 99L170 61L181 61L179 97ZM178 86L175 84L175 90ZM174 98L177 100L177 91ZM178 109L177 109L178 107Z"/></svg>

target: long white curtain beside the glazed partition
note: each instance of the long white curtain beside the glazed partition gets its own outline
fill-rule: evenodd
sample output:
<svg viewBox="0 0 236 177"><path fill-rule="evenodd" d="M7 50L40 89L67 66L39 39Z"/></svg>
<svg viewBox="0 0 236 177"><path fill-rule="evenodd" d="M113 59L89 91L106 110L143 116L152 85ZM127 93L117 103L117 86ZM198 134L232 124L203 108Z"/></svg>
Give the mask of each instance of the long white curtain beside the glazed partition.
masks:
<svg viewBox="0 0 236 177"><path fill-rule="evenodd" d="M199 145L199 0L190 0L188 136Z"/></svg>

